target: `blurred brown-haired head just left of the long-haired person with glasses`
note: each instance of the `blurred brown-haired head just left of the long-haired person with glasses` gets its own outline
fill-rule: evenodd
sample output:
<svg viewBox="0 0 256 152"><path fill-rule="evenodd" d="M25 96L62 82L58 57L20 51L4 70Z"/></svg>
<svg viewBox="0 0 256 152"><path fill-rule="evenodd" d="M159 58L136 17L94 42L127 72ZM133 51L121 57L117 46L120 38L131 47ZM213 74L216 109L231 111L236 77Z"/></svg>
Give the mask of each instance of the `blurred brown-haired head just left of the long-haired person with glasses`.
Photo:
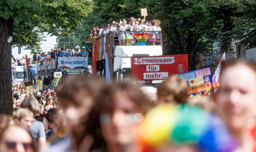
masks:
<svg viewBox="0 0 256 152"><path fill-rule="evenodd" d="M99 83L93 78L76 76L57 92L69 129L75 129L81 118L90 112L94 95L101 86Z"/></svg>

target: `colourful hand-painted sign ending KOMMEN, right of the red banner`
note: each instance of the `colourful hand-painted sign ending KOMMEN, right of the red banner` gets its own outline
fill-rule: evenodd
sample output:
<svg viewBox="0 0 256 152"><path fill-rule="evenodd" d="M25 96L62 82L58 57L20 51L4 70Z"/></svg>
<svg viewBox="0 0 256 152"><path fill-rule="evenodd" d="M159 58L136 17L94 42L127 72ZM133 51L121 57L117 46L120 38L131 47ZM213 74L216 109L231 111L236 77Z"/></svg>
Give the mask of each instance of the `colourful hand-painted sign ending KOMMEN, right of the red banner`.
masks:
<svg viewBox="0 0 256 152"><path fill-rule="evenodd" d="M179 74L180 78L187 81L188 95L210 91L212 89L211 67Z"/></svg>

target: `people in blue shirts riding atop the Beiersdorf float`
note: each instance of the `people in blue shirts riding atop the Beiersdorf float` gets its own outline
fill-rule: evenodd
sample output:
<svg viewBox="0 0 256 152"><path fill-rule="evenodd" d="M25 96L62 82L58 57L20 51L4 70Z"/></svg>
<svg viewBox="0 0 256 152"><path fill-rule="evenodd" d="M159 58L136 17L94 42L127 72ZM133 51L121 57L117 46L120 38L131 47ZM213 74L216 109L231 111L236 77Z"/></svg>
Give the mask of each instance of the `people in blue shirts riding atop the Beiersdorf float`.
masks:
<svg viewBox="0 0 256 152"><path fill-rule="evenodd" d="M86 51L85 47L82 47L80 50L80 47L77 45L75 47L75 50L73 47L70 47L68 49L65 47L65 49L61 48L55 48L53 51L49 52L42 52L41 54L37 55L37 60L44 60L46 58L55 58L55 57L91 57L91 50Z"/></svg>

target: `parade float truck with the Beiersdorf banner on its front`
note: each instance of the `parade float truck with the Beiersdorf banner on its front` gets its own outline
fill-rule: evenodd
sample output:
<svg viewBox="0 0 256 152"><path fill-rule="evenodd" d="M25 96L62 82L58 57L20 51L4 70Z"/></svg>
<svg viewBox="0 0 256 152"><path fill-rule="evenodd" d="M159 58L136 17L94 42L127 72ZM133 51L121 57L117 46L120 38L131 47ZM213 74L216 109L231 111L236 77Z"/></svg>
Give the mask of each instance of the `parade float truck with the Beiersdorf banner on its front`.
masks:
<svg viewBox="0 0 256 152"><path fill-rule="evenodd" d="M56 57L37 60L36 88L58 89L81 74L88 76L88 57Z"/></svg>

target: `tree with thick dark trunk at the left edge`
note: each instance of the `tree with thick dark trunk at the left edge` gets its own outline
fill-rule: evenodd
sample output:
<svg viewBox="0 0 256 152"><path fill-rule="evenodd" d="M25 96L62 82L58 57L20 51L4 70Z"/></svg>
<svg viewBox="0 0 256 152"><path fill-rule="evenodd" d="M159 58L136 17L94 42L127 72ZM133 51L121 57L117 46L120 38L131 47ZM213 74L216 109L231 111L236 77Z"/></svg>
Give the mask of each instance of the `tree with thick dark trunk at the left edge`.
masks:
<svg viewBox="0 0 256 152"><path fill-rule="evenodd" d="M42 33L66 34L91 11L91 0L0 0L0 113L12 108L11 47L39 51Z"/></svg>

